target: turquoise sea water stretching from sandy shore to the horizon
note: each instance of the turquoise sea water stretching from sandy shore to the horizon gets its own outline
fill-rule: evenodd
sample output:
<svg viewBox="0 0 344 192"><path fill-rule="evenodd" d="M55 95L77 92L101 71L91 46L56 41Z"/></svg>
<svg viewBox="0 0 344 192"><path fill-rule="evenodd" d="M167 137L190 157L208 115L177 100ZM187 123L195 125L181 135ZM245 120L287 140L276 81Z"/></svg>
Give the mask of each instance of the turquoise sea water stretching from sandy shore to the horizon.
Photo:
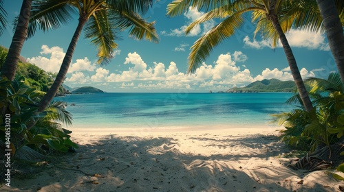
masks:
<svg viewBox="0 0 344 192"><path fill-rule="evenodd" d="M270 114L290 110L291 93L97 93L67 101L76 128L161 128L269 125ZM75 104L72 106L71 104Z"/></svg>

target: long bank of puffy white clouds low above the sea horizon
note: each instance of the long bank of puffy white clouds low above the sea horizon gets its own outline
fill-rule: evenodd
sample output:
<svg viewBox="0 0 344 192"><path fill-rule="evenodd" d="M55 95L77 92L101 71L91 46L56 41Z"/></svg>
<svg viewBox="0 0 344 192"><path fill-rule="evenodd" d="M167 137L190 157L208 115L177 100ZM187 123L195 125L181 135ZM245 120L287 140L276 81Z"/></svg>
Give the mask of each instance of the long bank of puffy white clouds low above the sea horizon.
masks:
<svg viewBox="0 0 344 192"><path fill-rule="evenodd" d="M101 82L103 84L116 84L117 88L144 88L148 90L175 90L175 89L208 89L226 90L233 86L245 86L257 80L277 78L279 80L292 80L289 67L284 69L264 69L261 74L253 76L249 69L241 69L237 63L248 58L241 51L220 54L213 64L205 62L196 69L194 74L187 75L179 71L175 62L164 64L153 62L151 67L142 60L139 53L128 53L124 64L128 69L118 73L111 73L108 69L98 67L91 75L74 72L66 82L73 84L87 84ZM303 68L302 77L314 77L313 71Z"/></svg>

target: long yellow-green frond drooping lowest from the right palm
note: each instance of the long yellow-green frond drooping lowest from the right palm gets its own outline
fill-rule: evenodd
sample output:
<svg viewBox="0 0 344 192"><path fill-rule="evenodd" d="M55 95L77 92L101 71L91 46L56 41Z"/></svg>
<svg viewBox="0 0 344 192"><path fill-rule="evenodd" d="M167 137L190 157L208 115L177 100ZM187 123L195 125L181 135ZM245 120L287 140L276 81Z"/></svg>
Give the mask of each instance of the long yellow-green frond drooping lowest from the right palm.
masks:
<svg viewBox="0 0 344 192"><path fill-rule="evenodd" d="M189 54L188 73L195 72L213 48L222 43L226 38L232 36L241 27L242 23L244 23L244 19L241 14L233 14L197 39L191 47Z"/></svg>

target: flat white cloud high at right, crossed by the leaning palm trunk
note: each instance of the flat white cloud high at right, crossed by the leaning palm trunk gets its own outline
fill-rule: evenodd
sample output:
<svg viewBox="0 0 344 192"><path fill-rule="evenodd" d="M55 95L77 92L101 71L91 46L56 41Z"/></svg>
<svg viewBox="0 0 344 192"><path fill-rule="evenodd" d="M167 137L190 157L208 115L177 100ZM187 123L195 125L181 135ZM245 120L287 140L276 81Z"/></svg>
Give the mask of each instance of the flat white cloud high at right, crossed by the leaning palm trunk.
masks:
<svg viewBox="0 0 344 192"><path fill-rule="evenodd" d="M301 47L307 49L319 49L323 51L329 51L330 47L328 43L325 42L325 35L316 33L316 32L308 32L299 29L291 29L288 34L286 34L288 43L290 47ZM268 40L253 40L250 41L250 38L246 36L243 40L246 47L251 47L255 49L262 49L264 47L271 48L270 43ZM277 47L282 47L281 42Z"/></svg>

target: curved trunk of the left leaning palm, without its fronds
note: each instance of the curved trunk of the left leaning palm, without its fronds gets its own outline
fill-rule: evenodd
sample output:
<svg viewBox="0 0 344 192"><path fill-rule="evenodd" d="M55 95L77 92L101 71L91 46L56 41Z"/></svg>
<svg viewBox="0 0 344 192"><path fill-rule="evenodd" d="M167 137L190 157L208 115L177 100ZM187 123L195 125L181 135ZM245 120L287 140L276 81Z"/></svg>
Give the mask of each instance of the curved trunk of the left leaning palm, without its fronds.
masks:
<svg viewBox="0 0 344 192"><path fill-rule="evenodd" d="M65 80L65 75L67 75L69 65L72 62L72 56L76 47L76 43L78 42L78 38L80 37L81 31L83 30L86 22L87 18L80 16L78 27L76 27L72 41L69 44L67 53L65 54L65 58L63 58L60 71L58 71L56 79L54 80L54 83L50 87L49 91L47 91L47 94L45 94L41 102L39 102L38 112L43 112L43 110L47 108L48 104L50 104L50 101L54 99L58 88L60 88L61 84L63 83L63 80Z"/></svg>

